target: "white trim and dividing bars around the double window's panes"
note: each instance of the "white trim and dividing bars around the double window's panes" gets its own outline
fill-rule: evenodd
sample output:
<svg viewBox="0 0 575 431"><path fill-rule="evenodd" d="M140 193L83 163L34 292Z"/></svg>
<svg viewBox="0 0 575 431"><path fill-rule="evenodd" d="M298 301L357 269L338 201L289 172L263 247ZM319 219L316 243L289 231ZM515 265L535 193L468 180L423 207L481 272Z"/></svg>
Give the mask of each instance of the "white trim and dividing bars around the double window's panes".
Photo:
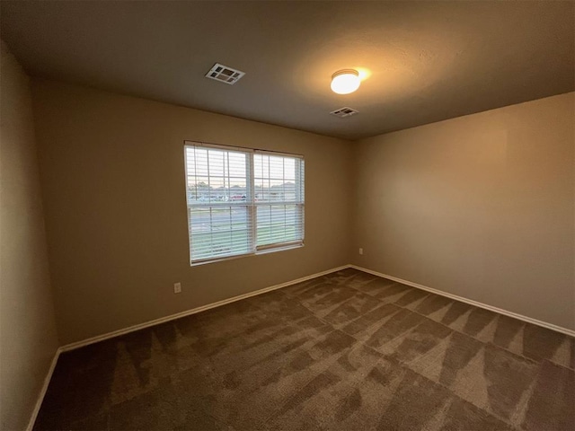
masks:
<svg viewBox="0 0 575 431"><path fill-rule="evenodd" d="M303 170L305 172L305 157L303 154L294 154L294 153L283 153L283 152L279 152L279 151L272 151L272 150L264 150L264 149L259 149L259 148L248 148L248 147L243 147L243 146L239 146L239 145L221 145L221 144L212 144L212 143L207 143L207 142L199 142L199 141L190 141L190 140L184 140L184 148L183 148L183 154L184 154L184 189L185 189L185 197L186 197L186 212L188 213L186 215L187 218L187 223L188 223L188 247L189 247L189 253L190 253L190 266L198 266L198 265L206 265L208 263L215 263L215 262L220 262L220 261L224 261L224 260L229 260L229 259L240 259L240 258L245 258L247 256L254 256L254 255L260 255L260 254L268 254L270 252L275 252L275 251L288 251L288 250L294 250L294 249L298 249L301 247L305 246L305 173L304 173L304 183L302 185L302 188L296 188L297 192L296 194L302 194L302 198L301 199L295 199L293 201L279 201L278 204L279 205L295 205L297 207L301 207L301 240L295 240L295 241L290 241L290 242L276 242L276 243L272 243L272 244L263 244L263 245L258 245L257 244L257 208L258 205L270 205L270 203L265 202L265 203L261 203L261 204L257 204L255 202L255 175L254 175L254 159L253 159L253 155L254 154L265 154L265 155L277 155L279 157L289 157L289 158L293 158L293 159L299 159L301 162L303 163ZM245 201L245 202L237 202L237 203L232 203L230 204L229 202L213 202L210 203L209 205L201 205L201 204L191 204L188 201L188 160L187 160L187 149L188 148L194 148L194 147L203 147L203 148L208 148L208 149L219 149L219 150L223 150L223 151L234 151L234 152L241 152L241 153L245 153L245 154L250 154L248 157L248 166L246 168L246 172L247 172L247 180L249 180L249 185L246 185L246 189L250 189L249 193L246 193L248 196L250 196L252 198L251 201ZM301 178L297 178L300 175L300 173L296 172L296 184L298 183L297 181L299 180L301 182ZM246 253L241 253L241 254L234 254L234 255L230 255L230 256L221 256L221 257L209 257L209 258L205 258L205 259L192 259L191 256L191 235L190 235L190 229L191 229L191 225L190 225L190 208L191 207L247 207L247 211L248 214L250 215L250 218L252 220L252 239L251 239L251 243L252 243L252 251L246 252Z"/></svg>

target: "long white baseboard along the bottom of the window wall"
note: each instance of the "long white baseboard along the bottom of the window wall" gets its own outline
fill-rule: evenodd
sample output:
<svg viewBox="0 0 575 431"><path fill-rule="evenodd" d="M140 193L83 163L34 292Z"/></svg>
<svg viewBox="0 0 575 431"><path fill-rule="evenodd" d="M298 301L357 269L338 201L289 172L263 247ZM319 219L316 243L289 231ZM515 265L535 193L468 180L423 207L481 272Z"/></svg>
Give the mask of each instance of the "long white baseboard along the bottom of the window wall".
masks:
<svg viewBox="0 0 575 431"><path fill-rule="evenodd" d="M326 274L331 274L332 272L339 271L341 269L349 268L349 265L343 265L342 267L328 269L326 271L318 272L316 274L312 274L311 276L297 278L296 280L291 280L286 283L281 283L275 286L264 287L260 290L255 290L253 292L249 292L243 295L237 295L232 298L227 298L222 301L217 301L217 303L208 303L207 305L201 305L197 308L193 308L191 310L187 310L185 312L177 312L175 314L171 314L169 316L161 317L159 319L155 319L154 321L146 321L144 323L138 323L137 325L129 326L128 328L124 328L122 330L114 330L112 332L108 332L106 334L98 335L91 339L83 339L82 341L76 341L75 343L66 344L66 346L60 347L61 352L67 352L69 350L74 350L75 348L88 346L93 343L97 343L99 341L103 341L104 339L113 339L114 337L119 337L120 335L128 334L129 332L133 332L135 330L143 330L144 328L149 328L150 326L155 326L160 323L164 323L166 321L173 321L175 319L180 319L181 317L189 316L190 314L195 314L197 312L204 312L211 308L221 307L222 305L226 305L226 303L234 303L236 301L241 301L242 299L249 298L250 296L261 295L265 294L266 292L270 292L272 290L281 289L282 287L296 285L297 283L301 283L303 281L310 280L315 277L321 277Z"/></svg>

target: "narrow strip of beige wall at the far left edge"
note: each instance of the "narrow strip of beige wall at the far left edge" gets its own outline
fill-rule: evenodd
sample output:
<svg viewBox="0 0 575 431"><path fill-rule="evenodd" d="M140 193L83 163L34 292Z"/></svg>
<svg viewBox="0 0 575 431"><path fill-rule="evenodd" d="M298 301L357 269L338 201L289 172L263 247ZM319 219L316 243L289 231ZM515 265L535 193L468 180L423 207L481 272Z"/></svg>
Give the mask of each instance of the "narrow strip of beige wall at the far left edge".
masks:
<svg viewBox="0 0 575 431"><path fill-rule="evenodd" d="M28 425L58 347L28 77L0 42L0 429Z"/></svg>

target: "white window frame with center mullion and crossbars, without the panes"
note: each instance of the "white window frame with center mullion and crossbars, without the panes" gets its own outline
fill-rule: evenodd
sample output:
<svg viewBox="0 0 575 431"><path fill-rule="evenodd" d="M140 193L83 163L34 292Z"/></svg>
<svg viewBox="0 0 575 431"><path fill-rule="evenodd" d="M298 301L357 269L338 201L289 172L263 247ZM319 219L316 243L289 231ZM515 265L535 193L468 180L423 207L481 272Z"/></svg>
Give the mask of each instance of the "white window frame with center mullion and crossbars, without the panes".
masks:
<svg viewBox="0 0 575 431"><path fill-rule="evenodd" d="M219 145L219 144L212 144L206 142L199 142L199 141L184 141L184 189L186 193L186 218L188 221L188 242L189 242L189 250L190 250L190 266L197 266L197 265L204 265L208 263L228 260L228 259L239 259L244 258L247 256L259 255L259 254L267 254L270 252L275 251L287 251L293 250L300 247L305 246L305 157L303 154L292 154L292 153L283 153L278 151L269 151L269 150L262 150L257 148L248 148L243 146L237 145ZM215 149L215 150L222 150L222 151L230 151L235 153L243 153L247 156L247 163L245 168L245 177L246 177L246 199L245 201L239 202L230 202L229 200L225 202L211 202L208 201L206 203L190 203L189 200L189 171L188 171L188 149L193 148L206 148L206 149ZM254 170L254 156L256 154L263 154L268 156L279 156L279 157L287 157L292 159L297 159L298 164L296 165L296 179L295 183L295 200L279 200L279 201L262 201L258 202L256 200L256 191L255 191L255 170ZM294 205L296 207L296 218L298 220L299 225L301 227L298 230L298 233L301 233L301 239L296 239L293 241L287 242L275 242L269 244L262 244L258 245L258 207L263 206L272 206L272 205ZM244 253L238 254L230 254L230 255L221 255L221 256L210 256L208 258L203 259L192 259L192 224L191 224L191 213L190 208L212 208L212 207L246 207L246 217L247 222L246 224L251 227L249 229L250 232L250 239L249 245L251 246L250 250ZM210 229L210 232L212 230Z"/></svg>

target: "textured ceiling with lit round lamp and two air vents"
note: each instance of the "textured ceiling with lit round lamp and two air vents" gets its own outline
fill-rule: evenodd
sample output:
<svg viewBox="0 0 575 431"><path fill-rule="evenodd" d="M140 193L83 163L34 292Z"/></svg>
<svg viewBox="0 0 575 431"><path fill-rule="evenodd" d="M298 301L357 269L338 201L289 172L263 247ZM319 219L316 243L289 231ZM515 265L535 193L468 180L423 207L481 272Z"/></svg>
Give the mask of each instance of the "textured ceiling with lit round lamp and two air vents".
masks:
<svg viewBox="0 0 575 431"><path fill-rule="evenodd" d="M9 2L31 75L358 139L575 89L573 2ZM204 77L216 62L235 85ZM330 77L355 67L358 92ZM339 119L343 106L359 114Z"/></svg>

